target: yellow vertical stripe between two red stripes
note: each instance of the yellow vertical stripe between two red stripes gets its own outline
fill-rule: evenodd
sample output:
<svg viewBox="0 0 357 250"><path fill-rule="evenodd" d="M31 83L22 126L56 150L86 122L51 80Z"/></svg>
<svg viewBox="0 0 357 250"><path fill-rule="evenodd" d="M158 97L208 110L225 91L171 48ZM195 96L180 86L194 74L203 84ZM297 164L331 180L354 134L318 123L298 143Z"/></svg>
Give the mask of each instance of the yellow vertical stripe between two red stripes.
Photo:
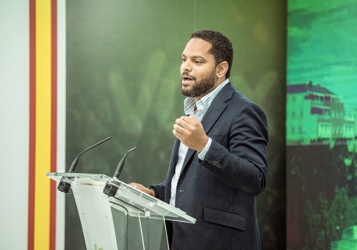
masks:
<svg viewBox="0 0 357 250"><path fill-rule="evenodd" d="M49 249L51 169L51 1L36 1L34 249Z"/></svg>

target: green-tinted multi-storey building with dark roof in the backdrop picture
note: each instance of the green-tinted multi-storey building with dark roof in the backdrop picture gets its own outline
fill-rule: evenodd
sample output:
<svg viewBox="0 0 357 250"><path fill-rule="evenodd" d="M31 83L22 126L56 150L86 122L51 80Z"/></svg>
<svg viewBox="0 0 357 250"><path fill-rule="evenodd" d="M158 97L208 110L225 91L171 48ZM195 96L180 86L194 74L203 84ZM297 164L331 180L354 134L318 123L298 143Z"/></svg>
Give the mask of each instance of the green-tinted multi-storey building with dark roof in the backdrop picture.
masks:
<svg viewBox="0 0 357 250"><path fill-rule="evenodd" d="M355 147L355 117L347 116L343 99L320 85L287 85L286 141L288 145L301 143L329 144L335 142Z"/></svg>

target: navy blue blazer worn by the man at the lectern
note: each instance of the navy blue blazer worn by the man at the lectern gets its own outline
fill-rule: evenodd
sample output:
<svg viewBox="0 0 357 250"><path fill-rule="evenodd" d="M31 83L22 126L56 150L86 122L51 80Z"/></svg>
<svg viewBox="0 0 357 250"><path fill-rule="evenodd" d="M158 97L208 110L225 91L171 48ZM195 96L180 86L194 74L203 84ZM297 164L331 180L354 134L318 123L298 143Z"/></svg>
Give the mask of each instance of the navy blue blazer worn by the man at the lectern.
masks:
<svg viewBox="0 0 357 250"><path fill-rule="evenodd" d="M201 122L212 144L203 161L188 149L175 200L197 221L175 222L172 235L169 226L169 241L175 250L260 249L256 196L266 186L266 115L228 82ZM179 145L176 138L166 180L152 185L167 203Z"/></svg>

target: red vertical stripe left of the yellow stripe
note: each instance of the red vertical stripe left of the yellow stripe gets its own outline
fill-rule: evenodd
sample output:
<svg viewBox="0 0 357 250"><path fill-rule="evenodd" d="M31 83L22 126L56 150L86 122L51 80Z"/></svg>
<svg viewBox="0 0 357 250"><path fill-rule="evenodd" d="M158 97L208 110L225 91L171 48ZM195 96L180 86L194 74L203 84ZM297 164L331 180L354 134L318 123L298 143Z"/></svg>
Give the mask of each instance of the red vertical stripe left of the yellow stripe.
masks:
<svg viewBox="0 0 357 250"><path fill-rule="evenodd" d="M29 221L27 249L34 249L35 132L36 132L36 0L30 1L30 135L29 135Z"/></svg>

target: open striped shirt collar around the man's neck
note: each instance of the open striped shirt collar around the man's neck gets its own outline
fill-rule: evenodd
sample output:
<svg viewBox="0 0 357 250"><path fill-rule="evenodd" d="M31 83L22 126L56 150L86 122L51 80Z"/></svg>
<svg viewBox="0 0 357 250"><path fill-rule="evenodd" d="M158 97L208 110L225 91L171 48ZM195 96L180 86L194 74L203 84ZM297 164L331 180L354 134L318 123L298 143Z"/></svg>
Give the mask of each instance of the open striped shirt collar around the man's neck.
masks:
<svg viewBox="0 0 357 250"><path fill-rule="evenodd" d="M203 96L200 100L195 102L195 97L186 97L183 101L184 110L186 115L195 114L195 107L198 110L204 109L205 111L210 107L213 99L217 96L217 94L221 91L221 89L229 82L228 78L224 80L220 85L218 85L215 89L209 92L207 95Z"/></svg>

